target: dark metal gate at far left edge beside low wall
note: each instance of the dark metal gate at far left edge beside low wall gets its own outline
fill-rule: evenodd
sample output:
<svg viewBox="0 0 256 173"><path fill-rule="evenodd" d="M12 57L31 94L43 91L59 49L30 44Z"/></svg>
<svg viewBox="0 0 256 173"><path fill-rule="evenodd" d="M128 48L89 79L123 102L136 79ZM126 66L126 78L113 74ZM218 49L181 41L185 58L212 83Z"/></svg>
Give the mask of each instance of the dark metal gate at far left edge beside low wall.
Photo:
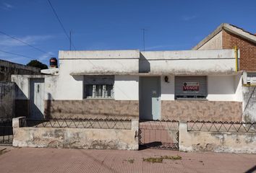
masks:
<svg viewBox="0 0 256 173"><path fill-rule="evenodd" d="M0 119L0 145L12 144L12 119Z"/></svg>

